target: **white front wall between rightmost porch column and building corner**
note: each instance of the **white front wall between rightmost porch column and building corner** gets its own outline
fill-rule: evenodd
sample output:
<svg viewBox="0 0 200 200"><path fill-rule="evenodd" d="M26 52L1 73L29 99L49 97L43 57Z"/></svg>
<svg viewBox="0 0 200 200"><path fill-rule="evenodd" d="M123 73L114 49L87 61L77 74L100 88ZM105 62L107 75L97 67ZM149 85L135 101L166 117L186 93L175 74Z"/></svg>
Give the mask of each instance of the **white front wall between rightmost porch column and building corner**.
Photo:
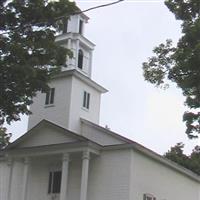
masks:
<svg viewBox="0 0 200 200"><path fill-rule="evenodd" d="M130 158L130 150L102 151L99 157L93 158L88 200L129 200Z"/></svg>

